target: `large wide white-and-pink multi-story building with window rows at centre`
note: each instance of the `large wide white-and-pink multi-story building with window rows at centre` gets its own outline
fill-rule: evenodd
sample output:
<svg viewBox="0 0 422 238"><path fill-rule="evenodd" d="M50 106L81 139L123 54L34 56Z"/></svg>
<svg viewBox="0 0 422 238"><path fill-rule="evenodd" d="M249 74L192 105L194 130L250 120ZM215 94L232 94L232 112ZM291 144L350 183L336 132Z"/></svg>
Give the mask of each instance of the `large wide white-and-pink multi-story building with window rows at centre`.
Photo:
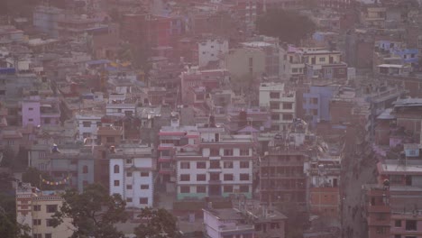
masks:
<svg viewBox="0 0 422 238"><path fill-rule="evenodd" d="M178 151L178 199L204 197L252 198L255 142L252 135L225 135L211 124L197 129L200 150Z"/></svg>

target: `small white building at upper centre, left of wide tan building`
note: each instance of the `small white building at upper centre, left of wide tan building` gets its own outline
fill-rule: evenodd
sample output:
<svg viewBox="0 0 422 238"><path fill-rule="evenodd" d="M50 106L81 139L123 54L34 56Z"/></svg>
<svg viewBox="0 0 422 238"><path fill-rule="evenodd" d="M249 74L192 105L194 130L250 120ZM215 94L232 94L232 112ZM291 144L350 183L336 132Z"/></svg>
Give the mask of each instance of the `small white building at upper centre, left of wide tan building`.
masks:
<svg viewBox="0 0 422 238"><path fill-rule="evenodd" d="M206 67L209 62L222 59L228 53L228 41L208 39L198 42L197 52L199 67Z"/></svg>

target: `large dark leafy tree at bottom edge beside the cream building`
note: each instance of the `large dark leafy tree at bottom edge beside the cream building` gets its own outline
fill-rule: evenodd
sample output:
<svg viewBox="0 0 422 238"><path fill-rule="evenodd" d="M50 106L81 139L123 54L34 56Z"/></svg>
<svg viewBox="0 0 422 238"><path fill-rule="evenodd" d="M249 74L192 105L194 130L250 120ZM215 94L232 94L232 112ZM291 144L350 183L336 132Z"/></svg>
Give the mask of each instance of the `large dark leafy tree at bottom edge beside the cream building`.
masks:
<svg viewBox="0 0 422 238"><path fill-rule="evenodd" d="M124 223L126 203L120 195L109 196L107 189L99 184L88 185L83 193L67 190L60 211L53 215L53 224L58 226L63 218L71 218L76 230L72 238L118 238L124 233L117 231L115 224Z"/></svg>

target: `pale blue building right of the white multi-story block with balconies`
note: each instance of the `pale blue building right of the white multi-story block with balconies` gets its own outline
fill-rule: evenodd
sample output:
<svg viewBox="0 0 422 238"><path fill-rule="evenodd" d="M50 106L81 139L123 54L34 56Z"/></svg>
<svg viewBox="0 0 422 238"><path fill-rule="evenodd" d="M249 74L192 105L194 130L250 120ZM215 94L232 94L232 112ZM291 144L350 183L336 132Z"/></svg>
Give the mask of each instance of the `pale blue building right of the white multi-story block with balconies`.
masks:
<svg viewBox="0 0 422 238"><path fill-rule="evenodd" d="M312 124L318 121L330 121L330 100L335 93L335 86L311 86L303 94L303 110L312 117Z"/></svg>

